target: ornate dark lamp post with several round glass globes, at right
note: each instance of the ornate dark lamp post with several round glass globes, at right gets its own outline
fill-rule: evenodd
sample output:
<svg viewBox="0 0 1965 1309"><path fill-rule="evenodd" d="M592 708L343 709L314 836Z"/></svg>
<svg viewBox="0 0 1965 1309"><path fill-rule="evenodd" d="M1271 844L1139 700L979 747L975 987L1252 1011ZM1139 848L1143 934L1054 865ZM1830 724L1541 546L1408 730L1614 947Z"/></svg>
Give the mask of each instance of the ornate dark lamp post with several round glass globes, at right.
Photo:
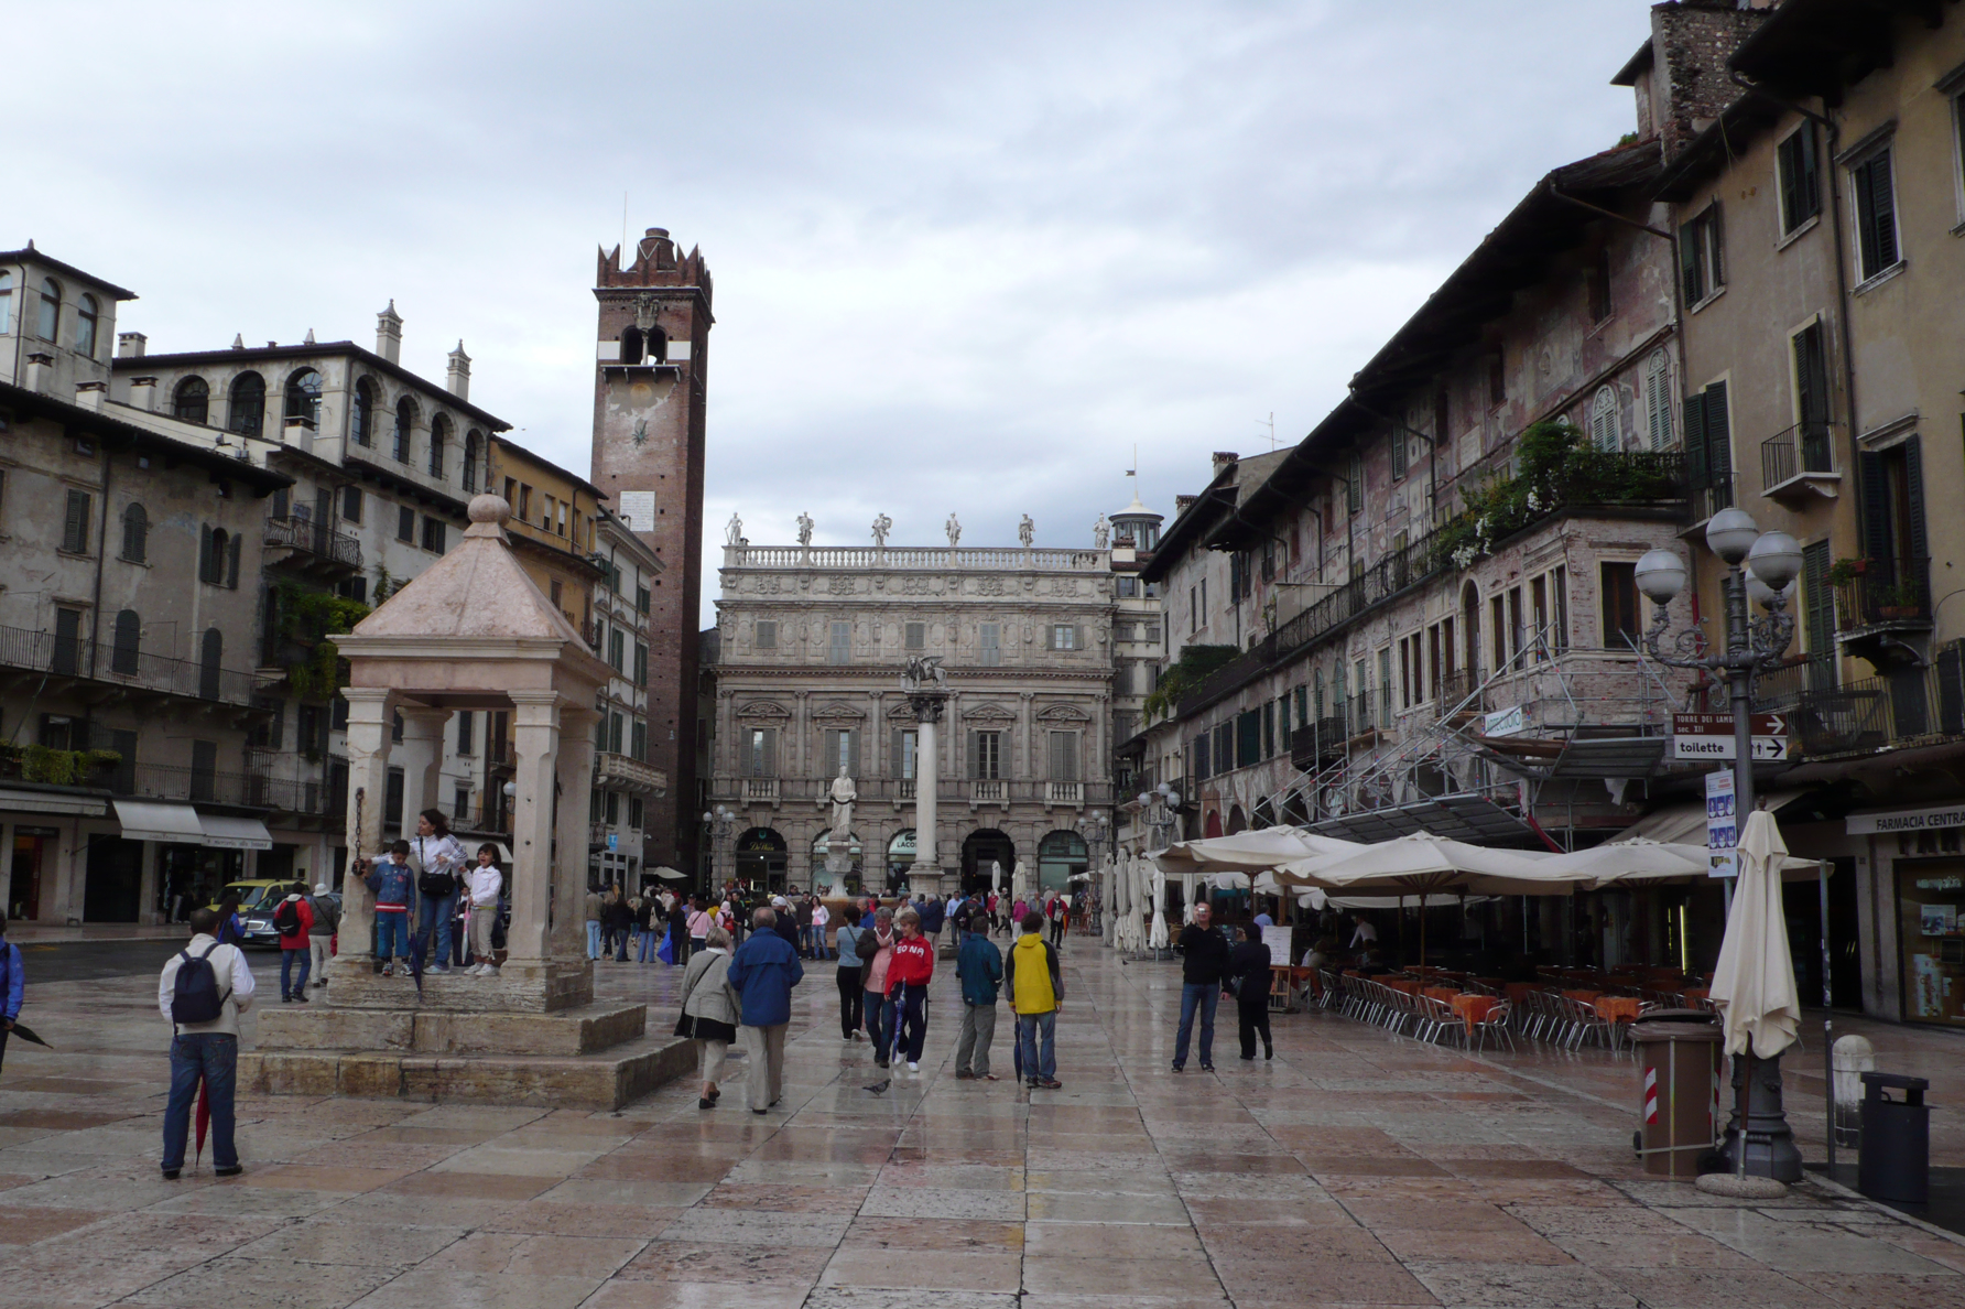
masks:
<svg viewBox="0 0 1965 1309"><path fill-rule="evenodd" d="M1660 664L1727 678L1733 700L1733 812L1745 820L1753 812L1753 678L1770 668L1794 637L1784 592L1802 570L1802 546L1788 533L1763 533L1745 509L1715 513L1706 523L1706 544L1727 566L1725 647L1715 651L1706 633L1686 627L1672 637L1672 654L1660 649L1670 627L1668 605L1686 584L1686 564L1672 550L1649 550L1637 560L1637 588L1656 605L1645 649ZM1751 611L1755 603L1767 611L1759 619ZM1780 1055L1733 1059L1733 1120L1719 1154L1727 1171L1800 1181L1802 1156L1780 1105Z"/></svg>

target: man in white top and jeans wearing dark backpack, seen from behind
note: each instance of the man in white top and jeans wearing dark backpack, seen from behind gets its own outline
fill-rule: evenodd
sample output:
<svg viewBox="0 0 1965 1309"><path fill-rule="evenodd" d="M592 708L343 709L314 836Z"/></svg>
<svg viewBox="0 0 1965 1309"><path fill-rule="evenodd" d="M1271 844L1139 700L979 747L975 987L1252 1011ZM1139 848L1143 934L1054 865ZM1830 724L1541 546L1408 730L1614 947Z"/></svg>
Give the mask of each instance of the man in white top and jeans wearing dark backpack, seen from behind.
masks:
<svg viewBox="0 0 1965 1309"><path fill-rule="evenodd" d="M163 1179L185 1167L191 1107L204 1083L212 1112L212 1171L236 1177L240 1152L232 1140L232 1093L238 1083L240 1014L252 1008L252 969L238 945L212 936L218 914L191 912L191 943L163 965L157 1008L171 1024L171 1101L163 1110Z"/></svg>

